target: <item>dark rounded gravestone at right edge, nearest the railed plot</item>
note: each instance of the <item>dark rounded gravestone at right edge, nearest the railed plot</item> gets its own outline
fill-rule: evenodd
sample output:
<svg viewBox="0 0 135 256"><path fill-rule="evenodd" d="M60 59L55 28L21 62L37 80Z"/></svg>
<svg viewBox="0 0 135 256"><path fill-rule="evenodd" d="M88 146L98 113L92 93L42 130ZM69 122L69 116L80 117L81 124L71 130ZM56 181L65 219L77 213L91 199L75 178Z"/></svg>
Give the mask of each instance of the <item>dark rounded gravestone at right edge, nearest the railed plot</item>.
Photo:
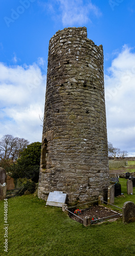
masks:
<svg viewBox="0 0 135 256"><path fill-rule="evenodd" d="M133 202L125 202L122 207L122 218L123 222L134 222L135 221L135 205Z"/></svg>

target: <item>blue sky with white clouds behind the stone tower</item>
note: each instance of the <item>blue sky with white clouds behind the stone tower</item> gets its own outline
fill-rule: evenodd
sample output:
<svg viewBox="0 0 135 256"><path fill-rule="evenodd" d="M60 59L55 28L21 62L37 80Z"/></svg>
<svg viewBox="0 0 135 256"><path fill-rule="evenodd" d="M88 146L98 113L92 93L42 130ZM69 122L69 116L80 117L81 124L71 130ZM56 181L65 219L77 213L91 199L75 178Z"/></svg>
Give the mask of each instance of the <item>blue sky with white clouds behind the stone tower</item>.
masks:
<svg viewBox="0 0 135 256"><path fill-rule="evenodd" d="M41 141L49 39L87 27L103 45L108 140L135 156L134 0L1 0L0 137Z"/></svg>

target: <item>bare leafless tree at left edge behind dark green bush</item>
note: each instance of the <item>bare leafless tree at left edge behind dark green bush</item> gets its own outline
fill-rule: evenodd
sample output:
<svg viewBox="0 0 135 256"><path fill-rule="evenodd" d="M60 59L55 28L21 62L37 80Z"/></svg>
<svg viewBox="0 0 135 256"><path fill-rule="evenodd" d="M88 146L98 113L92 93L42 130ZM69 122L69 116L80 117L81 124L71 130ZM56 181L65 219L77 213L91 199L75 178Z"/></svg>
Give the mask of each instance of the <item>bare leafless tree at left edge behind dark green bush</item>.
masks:
<svg viewBox="0 0 135 256"><path fill-rule="evenodd" d="M15 160L20 156L20 152L29 144L28 140L4 135L0 139L0 158L3 160Z"/></svg>

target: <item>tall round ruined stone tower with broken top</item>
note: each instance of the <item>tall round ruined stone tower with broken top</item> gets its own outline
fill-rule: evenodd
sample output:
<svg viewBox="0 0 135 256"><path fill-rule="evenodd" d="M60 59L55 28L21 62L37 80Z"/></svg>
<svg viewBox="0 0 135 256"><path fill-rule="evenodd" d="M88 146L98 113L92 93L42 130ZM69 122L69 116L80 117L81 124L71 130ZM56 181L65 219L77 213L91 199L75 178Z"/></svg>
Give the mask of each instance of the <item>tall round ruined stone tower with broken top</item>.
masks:
<svg viewBox="0 0 135 256"><path fill-rule="evenodd" d="M109 183L103 49L85 27L59 30L49 41L38 197L56 190L87 202Z"/></svg>

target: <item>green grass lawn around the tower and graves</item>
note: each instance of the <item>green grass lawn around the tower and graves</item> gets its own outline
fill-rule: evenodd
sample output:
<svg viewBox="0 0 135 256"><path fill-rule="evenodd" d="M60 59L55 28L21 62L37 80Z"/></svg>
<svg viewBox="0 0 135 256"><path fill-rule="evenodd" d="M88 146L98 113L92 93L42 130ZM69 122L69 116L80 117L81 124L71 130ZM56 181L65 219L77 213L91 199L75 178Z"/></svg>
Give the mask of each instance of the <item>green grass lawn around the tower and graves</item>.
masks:
<svg viewBox="0 0 135 256"><path fill-rule="evenodd" d="M122 207L125 201L135 203L126 195L126 180L120 179L125 198L115 198ZM33 195L8 199L8 252L4 252L4 201L0 201L0 255L101 255L135 254L135 222L122 220L84 227L70 219L60 207L45 206Z"/></svg>

